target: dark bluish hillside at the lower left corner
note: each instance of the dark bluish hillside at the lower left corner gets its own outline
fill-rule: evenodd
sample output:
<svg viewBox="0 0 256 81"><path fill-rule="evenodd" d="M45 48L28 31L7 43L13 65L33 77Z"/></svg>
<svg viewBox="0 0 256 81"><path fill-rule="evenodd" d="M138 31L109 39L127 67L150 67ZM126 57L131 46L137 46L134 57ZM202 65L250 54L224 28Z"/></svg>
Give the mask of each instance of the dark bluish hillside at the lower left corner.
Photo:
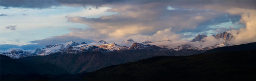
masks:
<svg viewBox="0 0 256 81"><path fill-rule="evenodd" d="M18 61L7 56L0 55L1 75L6 74L69 74L65 69L49 63L34 61Z"/></svg>

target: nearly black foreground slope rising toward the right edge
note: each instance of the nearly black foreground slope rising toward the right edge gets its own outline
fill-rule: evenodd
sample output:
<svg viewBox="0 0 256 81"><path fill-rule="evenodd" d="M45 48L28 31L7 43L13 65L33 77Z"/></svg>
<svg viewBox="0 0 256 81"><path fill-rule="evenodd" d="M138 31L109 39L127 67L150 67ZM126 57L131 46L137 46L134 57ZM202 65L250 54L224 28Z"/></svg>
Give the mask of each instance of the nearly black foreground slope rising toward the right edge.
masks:
<svg viewBox="0 0 256 81"><path fill-rule="evenodd" d="M256 50L154 57L104 68L84 80L256 80Z"/></svg>

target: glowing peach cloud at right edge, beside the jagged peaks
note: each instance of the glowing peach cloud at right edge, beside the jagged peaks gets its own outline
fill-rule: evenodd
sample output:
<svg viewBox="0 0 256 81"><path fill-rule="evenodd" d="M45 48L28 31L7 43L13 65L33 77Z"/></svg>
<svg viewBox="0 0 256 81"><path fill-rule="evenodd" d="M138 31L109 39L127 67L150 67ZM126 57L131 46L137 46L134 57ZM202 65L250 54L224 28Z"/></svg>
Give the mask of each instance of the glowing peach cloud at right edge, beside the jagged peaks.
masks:
<svg viewBox="0 0 256 81"><path fill-rule="evenodd" d="M246 26L246 28L240 29L238 35L229 43L238 45L256 42L256 10L234 8L227 12L241 14L240 22Z"/></svg>

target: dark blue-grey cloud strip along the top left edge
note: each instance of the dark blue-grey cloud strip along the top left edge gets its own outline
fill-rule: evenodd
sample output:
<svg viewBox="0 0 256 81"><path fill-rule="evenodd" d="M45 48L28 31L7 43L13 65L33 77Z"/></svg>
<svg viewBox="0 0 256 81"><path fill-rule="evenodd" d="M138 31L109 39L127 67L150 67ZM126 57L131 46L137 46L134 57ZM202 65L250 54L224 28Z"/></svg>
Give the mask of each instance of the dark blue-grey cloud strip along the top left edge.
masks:
<svg viewBox="0 0 256 81"><path fill-rule="evenodd" d="M102 6L108 3L121 2L113 0L1 0L1 6L6 7L18 7L18 8L51 8L52 6L77 6L77 5L90 5L90 6Z"/></svg>

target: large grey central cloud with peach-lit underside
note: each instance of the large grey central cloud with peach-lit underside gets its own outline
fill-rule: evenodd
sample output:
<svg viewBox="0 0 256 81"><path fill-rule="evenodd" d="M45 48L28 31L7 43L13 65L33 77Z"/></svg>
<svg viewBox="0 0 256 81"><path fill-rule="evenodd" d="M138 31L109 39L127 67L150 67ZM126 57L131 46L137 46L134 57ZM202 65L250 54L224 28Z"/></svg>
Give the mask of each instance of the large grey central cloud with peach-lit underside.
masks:
<svg viewBox="0 0 256 81"><path fill-rule="evenodd" d="M67 16L69 22L89 25L90 29L106 35L108 38L124 39L133 35L153 35L157 31L172 28L173 32L195 29L198 23L219 16L216 12L205 10L172 10L168 4L146 3L141 5L117 4L108 12L109 16L88 18Z"/></svg>

